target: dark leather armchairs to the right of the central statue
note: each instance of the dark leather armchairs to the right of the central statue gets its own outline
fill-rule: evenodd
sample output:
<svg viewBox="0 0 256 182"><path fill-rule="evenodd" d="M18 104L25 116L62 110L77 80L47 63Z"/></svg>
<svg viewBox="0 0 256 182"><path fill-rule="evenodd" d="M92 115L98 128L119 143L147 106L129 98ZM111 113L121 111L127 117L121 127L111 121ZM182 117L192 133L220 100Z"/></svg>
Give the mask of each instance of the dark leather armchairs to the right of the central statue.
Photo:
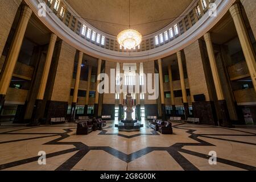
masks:
<svg viewBox="0 0 256 182"><path fill-rule="evenodd" d="M149 126L155 131L159 131L162 134L172 134L172 123L168 121L162 121L160 119L153 119L149 123Z"/></svg>

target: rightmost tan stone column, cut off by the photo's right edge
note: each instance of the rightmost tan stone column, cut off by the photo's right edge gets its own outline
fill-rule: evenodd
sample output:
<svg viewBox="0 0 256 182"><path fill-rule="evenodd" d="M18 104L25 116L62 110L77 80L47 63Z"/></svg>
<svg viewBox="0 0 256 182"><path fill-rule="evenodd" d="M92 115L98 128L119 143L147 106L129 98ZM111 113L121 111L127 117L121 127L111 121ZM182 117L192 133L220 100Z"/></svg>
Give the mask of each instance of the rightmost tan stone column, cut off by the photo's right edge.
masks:
<svg viewBox="0 0 256 182"><path fill-rule="evenodd" d="M242 18L242 13L240 10L240 5L238 3L234 4L229 9L230 14L234 20L236 26L238 38L240 40L243 55L249 69L251 80L253 81L254 90L256 91L256 62L255 62L255 52L253 46L250 42L250 37L245 26L245 22Z"/></svg>

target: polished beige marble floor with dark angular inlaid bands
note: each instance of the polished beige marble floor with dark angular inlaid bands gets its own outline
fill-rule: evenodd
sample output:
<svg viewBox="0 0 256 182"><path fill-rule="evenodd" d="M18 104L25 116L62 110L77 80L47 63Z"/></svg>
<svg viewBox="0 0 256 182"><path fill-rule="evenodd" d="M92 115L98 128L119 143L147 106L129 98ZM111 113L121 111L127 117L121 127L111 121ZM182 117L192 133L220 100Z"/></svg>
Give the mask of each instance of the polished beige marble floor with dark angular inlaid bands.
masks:
<svg viewBox="0 0 256 182"><path fill-rule="evenodd" d="M173 135L148 128L76 135L76 125L0 126L0 170L256 170L256 129L173 123ZM46 152L46 165L38 152ZM209 164L209 152L217 164Z"/></svg>

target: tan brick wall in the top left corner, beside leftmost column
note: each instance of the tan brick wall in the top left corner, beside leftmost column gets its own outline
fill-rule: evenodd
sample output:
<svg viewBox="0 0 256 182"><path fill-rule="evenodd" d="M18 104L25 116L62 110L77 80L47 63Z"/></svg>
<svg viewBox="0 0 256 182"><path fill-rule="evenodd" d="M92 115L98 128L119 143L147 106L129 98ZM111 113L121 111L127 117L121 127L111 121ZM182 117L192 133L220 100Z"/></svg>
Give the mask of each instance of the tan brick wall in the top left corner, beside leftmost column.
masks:
<svg viewBox="0 0 256 182"><path fill-rule="evenodd" d="M11 26L13 25L20 2L21 0L0 1L0 56L2 55L3 48L5 47L5 43L11 30Z"/></svg>

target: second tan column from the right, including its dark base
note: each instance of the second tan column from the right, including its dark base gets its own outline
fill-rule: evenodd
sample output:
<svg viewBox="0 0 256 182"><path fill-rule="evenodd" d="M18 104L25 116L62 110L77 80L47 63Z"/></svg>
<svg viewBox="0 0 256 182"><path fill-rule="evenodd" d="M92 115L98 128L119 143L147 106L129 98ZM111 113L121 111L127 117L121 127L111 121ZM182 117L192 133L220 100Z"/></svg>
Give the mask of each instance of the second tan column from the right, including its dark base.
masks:
<svg viewBox="0 0 256 182"><path fill-rule="evenodd" d="M222 122L219 121L220 122L219 125L224 127L230 127L232 125L229 118L228 106L226 105L226 100L224 98L224 93L221 86L220 76L218 75L216 57L214 55L214 49L212 46L212 40L210 38L209 32L204 35L204 40L207 46L207 52L208 52L208 57L210 61L210 68L212 69L212 76L213 76L213 81L214 81L216 94L218 98L218 105L220 106L220 115L222 118Z"/></svg>

